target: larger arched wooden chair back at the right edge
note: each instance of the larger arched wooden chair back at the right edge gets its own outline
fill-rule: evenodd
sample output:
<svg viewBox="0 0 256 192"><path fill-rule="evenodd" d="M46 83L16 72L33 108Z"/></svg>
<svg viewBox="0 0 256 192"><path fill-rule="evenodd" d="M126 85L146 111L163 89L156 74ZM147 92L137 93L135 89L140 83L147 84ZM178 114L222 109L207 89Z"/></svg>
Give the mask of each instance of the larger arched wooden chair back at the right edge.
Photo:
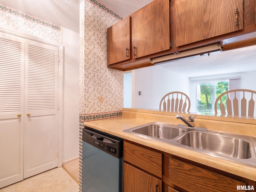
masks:
<svg viewBox="0 0 256 192"><path fill-rule="evenodd" d="M223 96L226 95L226 98ZM225 107L226 100L226 107ZM254 116L256 91L235 89L222 93L215 101L214 110L218 114L217 105L220 104L220 114Z"/></svg>

